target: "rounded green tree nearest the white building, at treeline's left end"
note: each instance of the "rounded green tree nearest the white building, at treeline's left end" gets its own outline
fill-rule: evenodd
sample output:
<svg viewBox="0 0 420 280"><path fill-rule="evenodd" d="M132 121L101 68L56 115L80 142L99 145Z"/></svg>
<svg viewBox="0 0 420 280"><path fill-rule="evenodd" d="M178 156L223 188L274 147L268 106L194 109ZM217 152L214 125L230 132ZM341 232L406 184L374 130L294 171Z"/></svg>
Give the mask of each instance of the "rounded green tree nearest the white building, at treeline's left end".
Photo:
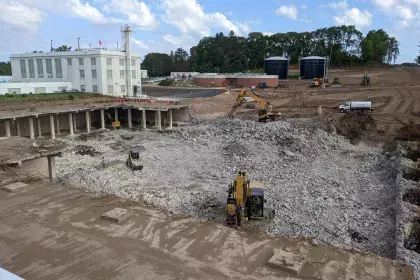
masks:
<svg viewBox="0 0 420 280"><path fill-rule="evenodd" d="M144 57L142 69L151 77L168 76L173 71L173 61L166 53L149 53Z"/></svg>

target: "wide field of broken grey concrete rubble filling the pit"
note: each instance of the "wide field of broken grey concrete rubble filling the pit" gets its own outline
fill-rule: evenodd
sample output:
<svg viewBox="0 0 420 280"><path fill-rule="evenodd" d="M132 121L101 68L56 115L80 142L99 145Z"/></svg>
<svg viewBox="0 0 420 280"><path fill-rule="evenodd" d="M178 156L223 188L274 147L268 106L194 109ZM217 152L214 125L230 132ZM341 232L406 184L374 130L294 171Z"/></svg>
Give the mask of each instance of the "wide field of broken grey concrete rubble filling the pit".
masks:
<svg viewBox="0 0 420 280"><path fill-rule="evenodd" d="M267 206L276 211L264 227L269 234L394 257L397 158L310 123L219 119L172 133L118 130L69 139L73 147L94 150L74 148L57 160L58 177L73 187L224 223L227 187L242 170L264 183ZM142 171L125 166L129 150L140 151Z"/></svg>

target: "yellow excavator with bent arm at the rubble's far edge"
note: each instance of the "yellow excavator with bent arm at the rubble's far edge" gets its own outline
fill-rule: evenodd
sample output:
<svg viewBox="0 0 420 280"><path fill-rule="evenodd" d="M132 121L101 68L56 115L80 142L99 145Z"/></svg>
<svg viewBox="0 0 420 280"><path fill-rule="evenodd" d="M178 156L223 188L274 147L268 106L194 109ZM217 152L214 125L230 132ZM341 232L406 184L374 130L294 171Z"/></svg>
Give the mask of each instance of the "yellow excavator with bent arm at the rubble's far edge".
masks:
<svg viewBox="0 0 420 280"><path fill-rule="evenodd" d="M277 117L280 116L280 113L273 112L273 106L270 104L270 102L265 102L264 98L257 95L249 88L243 88L238 97L236 97L235 105L233 105L232 110L229 113L230 118L235 115L238 107L240 107L244 102L247 102L247 97L257 102L260 107L258 111L259 122L267 122L267 120L274 121Z"/></svg>

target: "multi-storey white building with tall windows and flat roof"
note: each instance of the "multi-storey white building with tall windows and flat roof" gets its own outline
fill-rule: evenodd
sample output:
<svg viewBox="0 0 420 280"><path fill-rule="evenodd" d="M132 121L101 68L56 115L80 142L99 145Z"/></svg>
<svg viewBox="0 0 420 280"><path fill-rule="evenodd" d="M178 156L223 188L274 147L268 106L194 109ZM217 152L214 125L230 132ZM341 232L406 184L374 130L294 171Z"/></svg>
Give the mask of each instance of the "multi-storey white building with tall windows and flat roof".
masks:
<svg viewBox="0 0 420 280"><path fill-rule="evenodd" d="M14 82L71 82L72 88L81 92L141 94L140 56L126 52L95 49L24 53L12 54L10 60Z"/></svg>

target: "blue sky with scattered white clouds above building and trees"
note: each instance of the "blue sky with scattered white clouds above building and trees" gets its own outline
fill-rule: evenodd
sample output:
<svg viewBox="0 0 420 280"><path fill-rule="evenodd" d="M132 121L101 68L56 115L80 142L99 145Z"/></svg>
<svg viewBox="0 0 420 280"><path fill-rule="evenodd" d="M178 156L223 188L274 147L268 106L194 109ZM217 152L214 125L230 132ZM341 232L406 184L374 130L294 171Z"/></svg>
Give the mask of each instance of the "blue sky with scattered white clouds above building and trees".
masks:
<svg viewBox="0 0 420 280"><path fill-rule="evenodd" d="M133 52L187 51L217 32L274 34L355 25L384 29L401 43L401 62L419 55L420 0L0 0L0 61L53 46L116 49L129 24Z"/></svg>

